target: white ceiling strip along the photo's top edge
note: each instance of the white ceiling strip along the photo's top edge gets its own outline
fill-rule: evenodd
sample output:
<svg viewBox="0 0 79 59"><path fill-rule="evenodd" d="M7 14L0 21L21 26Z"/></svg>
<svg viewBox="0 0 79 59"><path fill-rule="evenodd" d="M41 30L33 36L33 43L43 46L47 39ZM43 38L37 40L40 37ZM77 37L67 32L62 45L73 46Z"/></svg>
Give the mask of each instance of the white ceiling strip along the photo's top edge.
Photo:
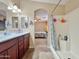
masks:
<svg viewBox="0 0 79 59"><path fill-rule="evenodd" d="M50 4L57 4L59 0L32 0L35 2L42 2L42 3L50 3ZM68 0L62 0L61 5L65 5L68 2Z"/></svg>

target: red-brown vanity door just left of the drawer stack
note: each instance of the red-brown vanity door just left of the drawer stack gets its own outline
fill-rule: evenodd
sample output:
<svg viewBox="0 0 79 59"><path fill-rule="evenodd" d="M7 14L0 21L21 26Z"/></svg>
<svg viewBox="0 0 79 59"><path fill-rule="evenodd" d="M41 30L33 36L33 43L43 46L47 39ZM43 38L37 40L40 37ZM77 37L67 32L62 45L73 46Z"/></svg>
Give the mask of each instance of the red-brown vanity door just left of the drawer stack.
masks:
<svg viewBox="0 0 79 59"><path fill-rule="evenodd" d="M8 59L18 59L18 49L16 44L8 49L8 56L10 56Z"/></svg>

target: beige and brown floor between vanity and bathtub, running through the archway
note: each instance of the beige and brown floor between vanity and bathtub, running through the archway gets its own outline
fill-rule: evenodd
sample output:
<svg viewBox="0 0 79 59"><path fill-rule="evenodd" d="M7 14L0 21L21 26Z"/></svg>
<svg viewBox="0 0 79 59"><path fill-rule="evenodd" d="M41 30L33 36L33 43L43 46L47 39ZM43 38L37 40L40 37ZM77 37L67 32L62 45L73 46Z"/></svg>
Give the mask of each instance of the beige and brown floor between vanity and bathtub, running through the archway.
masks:
<svg viewBox="0 0 79 59"><path fill-rule="evenodd" d="M23 59L54 59L46 39L36 39L35 42L35 49L29 50Z"/></svg>

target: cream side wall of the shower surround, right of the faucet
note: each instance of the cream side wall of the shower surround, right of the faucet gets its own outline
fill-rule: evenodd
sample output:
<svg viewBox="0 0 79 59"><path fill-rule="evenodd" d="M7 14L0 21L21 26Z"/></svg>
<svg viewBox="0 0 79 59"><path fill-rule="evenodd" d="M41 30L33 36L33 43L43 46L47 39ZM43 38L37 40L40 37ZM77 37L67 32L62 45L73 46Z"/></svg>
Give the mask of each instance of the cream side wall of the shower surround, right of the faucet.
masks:
<svg viewBox="0 0 79 59"><path fill-rule="evenodd" d="M69 26L69 40L72 54L79 59L79 8L65 15Z"/></svg>

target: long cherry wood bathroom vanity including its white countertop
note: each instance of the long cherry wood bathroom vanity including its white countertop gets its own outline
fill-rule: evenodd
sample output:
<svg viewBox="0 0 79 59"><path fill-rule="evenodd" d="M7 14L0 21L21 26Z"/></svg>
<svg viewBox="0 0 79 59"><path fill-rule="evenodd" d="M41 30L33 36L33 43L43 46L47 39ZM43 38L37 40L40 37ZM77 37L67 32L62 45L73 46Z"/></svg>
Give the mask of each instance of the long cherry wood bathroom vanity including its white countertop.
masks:
<svg viewBox="0 0 79 59"><path fill-rule="evenodd" d="M0 36L0 59L22 59L29 48L29 33Z"/></svg>

